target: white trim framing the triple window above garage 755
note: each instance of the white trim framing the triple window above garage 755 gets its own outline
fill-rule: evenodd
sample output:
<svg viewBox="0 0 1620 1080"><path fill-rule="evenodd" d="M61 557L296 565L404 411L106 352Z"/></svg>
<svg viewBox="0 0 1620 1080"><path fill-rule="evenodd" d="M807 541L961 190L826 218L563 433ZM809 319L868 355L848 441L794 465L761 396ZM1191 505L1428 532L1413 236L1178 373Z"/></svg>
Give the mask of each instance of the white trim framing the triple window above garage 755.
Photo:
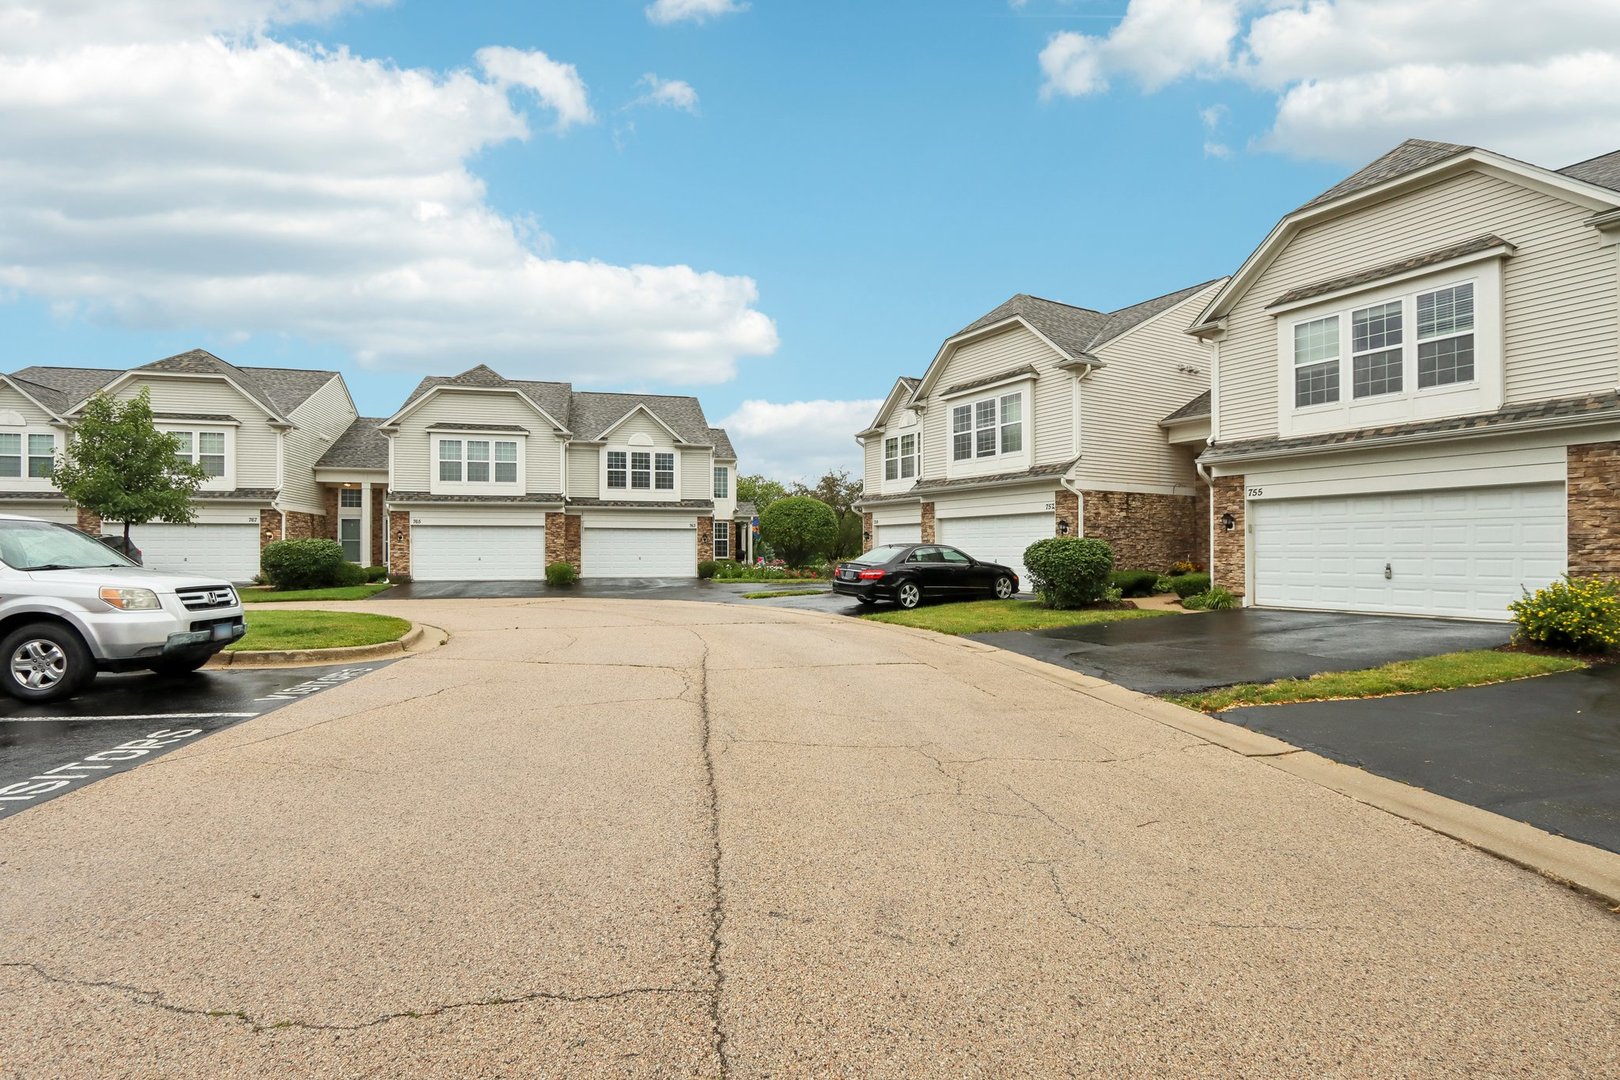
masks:
<svg viewBox="0 0 1620 1080"><path fill-rule="evenodd" d="M1474 287L1474 377L1437 387L1418 385L1418 295L1452 285ZM1353 313L1401 301L1401 389L1358 398L1354 395ZM1338 316L1338 400L1294 405L1294 327ZM1489 413L1502 408L1502 261L1486 259L1468 267L1443 267L1434 274L1379 282L1356 293L1335 293L1314 304L1290 306L1277 317L1278 436L1354 431L1445 416Z"/></svg>

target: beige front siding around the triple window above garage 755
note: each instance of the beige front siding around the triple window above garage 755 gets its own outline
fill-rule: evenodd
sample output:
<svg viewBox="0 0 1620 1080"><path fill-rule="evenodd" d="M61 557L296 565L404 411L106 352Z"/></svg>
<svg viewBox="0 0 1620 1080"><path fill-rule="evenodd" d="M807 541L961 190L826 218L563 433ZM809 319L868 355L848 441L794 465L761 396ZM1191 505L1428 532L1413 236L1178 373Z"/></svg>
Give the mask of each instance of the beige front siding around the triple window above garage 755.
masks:
<svg viewBox="0 0 1620 1080"><path fill-rule="evenodd" d="M1277 434L1277 321L1285 291L1434 251L1482 233L1518 246L1503 264L1507 402L1615 385L1615 249L1597 244L1591 210L1486 173L1468 173L1312 225L1256 279L1220 345L1223 442Z"/></svg>

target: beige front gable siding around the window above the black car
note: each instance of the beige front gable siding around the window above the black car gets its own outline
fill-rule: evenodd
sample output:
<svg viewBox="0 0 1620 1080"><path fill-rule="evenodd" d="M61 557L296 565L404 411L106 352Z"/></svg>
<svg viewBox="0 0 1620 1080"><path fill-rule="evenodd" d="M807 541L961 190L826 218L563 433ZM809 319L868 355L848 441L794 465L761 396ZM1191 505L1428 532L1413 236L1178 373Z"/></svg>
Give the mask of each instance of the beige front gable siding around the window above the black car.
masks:
<svg viewBox="0 0 1620 1080"><path fill-rule="evenodd" d="M1035 400L1025 402L1025 424L1034 421L1035 427L1035 463L1045 465L1072 458L1074 432L1069 426L1069 413L1074 400L1074 376L1056 366L1059 359L1063 356L1022 325L970 342L951 353L944 371L933 384L930 395L933 405L922 418L922 468L919 476L923 479L944 478L949 458L951 405L977 398L977 395L969 393L943 402L940 392L1027 364L1034 364L1040 372L1040 379L1035 382ZM993 392L998 390L985 390L985 395ZM878 453L883 453L881 447L878 447Z"/></svg>

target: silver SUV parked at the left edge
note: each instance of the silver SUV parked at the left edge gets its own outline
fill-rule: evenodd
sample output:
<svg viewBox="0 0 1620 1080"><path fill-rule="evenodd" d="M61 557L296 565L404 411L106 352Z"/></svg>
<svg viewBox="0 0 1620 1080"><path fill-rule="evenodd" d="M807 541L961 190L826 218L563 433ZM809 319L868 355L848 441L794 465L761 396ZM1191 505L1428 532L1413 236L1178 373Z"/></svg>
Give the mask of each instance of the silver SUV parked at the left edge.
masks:
<svg viewBox="0 0 1620 1080"><path fill-rule="evenodd" d="M227 581L139 567L78 529L0 515L0 680L55 701L96 672L194 672L246 633Z"/></svg>

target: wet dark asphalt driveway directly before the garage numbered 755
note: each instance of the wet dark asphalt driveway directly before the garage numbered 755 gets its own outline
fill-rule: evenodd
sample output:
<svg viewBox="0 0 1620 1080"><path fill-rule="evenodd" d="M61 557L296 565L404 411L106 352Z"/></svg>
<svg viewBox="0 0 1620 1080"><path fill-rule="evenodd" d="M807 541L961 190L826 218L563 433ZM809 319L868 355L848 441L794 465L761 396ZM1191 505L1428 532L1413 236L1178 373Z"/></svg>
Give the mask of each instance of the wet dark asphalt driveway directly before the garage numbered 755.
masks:
<svg viewBox="0 0 1620 1080"><path fill-rule="evenodd" d="M1163 619L974 635L1142 693L1187 693L1507 644L1507 623L1243 607Z"/></svg>

